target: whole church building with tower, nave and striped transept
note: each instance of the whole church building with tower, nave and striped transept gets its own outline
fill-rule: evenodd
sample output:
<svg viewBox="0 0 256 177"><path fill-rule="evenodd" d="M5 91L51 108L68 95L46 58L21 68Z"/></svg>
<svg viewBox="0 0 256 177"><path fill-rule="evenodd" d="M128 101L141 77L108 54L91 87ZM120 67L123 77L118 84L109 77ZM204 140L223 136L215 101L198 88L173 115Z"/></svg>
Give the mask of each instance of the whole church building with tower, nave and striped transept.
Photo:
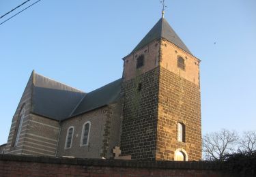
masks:
<svg viewBox="0 0 256 177"><path fill-rule="evenodd" d="M200 60L162 16L123 61L122 78L90 93L32 71L4 152L199 161Z"/></svg>

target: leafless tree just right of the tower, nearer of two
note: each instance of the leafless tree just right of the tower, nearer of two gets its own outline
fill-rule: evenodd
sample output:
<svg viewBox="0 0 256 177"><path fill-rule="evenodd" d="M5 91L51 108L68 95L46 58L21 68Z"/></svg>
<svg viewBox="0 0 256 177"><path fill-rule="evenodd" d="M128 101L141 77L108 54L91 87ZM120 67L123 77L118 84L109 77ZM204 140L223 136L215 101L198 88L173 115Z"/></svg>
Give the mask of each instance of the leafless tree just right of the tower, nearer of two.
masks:
<svg viewBox="0 0 256 177"><path fill-rule="evenodd" d="M236 131L222 129L203 136L203 157L205 160L223 161L225 155L234 152L238 145Z"/></svg>

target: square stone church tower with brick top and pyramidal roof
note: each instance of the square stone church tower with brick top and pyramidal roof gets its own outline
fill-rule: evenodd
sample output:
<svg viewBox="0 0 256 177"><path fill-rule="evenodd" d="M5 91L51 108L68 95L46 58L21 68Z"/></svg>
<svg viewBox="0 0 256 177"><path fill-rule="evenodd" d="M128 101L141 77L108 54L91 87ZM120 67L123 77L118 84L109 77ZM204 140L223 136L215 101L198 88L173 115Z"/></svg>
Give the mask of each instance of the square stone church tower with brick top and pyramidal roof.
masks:
<svg viewBox="0 0 256 177"><path fill-rule="evenodd" d="M123 60L122 155L201 159L200 60L165 18Z"/></svg>

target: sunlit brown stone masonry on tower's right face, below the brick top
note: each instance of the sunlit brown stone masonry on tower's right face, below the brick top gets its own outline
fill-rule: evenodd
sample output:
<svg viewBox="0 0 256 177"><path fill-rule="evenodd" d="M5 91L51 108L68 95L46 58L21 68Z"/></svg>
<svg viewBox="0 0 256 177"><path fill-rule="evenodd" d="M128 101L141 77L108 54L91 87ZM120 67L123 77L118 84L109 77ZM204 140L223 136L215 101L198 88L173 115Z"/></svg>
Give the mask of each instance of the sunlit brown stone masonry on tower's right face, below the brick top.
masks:
<svg viewBox="0 0 256 177"><path fill-rule="evenodd" d="M160 67L156 160L174 160L183 148L188 161L201 159L201 106L197 84ZM177 123L185 125L185 142L177 141Z"/></svg>

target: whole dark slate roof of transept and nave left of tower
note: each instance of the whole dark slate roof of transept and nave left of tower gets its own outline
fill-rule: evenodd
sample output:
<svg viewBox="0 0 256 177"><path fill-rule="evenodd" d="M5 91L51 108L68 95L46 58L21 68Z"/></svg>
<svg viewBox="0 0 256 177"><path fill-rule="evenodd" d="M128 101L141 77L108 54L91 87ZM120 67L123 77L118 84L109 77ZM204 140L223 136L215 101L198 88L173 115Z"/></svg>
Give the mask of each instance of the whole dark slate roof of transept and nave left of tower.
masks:
<svg viewBox="0 0 256 177"><path fill-rule="evenodd" d="M54 120L65 120L109 103L120 96L122 79L90 93L61 84L33 71L32 112Z"/></svg>

